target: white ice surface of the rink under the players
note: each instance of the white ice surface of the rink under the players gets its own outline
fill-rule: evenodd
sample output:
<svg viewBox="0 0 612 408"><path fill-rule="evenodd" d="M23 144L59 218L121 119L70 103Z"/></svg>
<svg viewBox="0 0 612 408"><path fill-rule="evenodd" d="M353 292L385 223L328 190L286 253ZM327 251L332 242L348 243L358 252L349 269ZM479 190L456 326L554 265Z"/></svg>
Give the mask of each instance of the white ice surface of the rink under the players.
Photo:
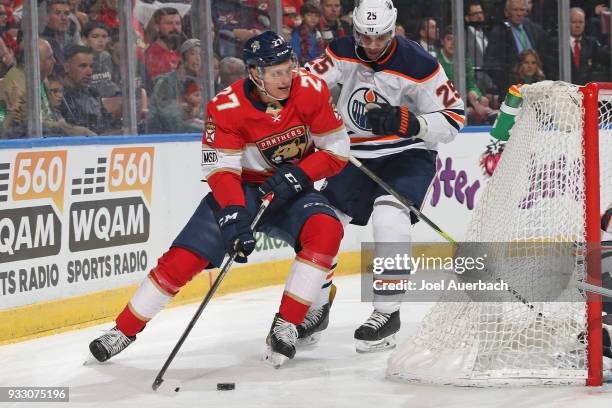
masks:
<svg viewBox="0 0 612 408"><path fill-rule="evenodd" d="M384 378L388 353L357 354L353 331L371 312L360 302L359 277L335 279L330 327L318 345L299 349L275 370L261 361L265 336L283 288L215 298L202 314L165 378L182 383L174 397L151 384L197 305L159 314L138 340L104 365L83 366L89 342L111 323L0 347L1 386L68 386L58 407L612 407L612 386L477 389L413 385ZM429 304L402 306L400 343ZM217 391L235 382L234 391ZM26 407L32 403L0 403Z"/></svg>

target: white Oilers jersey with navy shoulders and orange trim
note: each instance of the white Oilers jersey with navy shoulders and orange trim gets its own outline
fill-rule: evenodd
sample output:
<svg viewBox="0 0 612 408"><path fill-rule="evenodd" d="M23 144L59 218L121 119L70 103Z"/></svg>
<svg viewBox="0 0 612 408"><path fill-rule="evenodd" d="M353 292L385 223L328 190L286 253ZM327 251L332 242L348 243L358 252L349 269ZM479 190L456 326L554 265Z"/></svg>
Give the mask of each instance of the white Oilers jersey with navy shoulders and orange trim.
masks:
<svg viewBox="0 0 612 408"><path fill-rule="evenodd" d="M414 41L396 37L383 60L366 63L352 36L332 41L323 56L306 68L330 88L340 86L337 108L351 138L351 154L374 158L406 149L437 150L455 138L465 122L463 101L438 61ZM365 115L368 102L407 106L427 126L420 139L372 134Z"/></svg>

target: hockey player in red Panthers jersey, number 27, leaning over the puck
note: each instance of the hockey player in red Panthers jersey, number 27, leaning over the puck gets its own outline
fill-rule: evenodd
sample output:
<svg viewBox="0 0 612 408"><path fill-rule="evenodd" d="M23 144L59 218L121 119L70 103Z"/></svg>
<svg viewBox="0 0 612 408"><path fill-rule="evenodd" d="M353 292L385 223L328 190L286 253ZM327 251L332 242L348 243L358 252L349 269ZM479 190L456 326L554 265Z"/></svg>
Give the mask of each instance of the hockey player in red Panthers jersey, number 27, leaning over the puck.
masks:
<svg viewBox="0 0 612 408"><path fill-rule="evenodd" d="M256 229L295 248L279 312L266 340L265 359L279 366L293 358L296 326L332 267L343 235L327 199L313 182L346 165L349 140L324 81L297 67L293 50L267 31L245 44L249 78L208 104L202 171L211 189L158 260L116 326L89 345L105 361L203 269L219 267L236 251L246 262L255 249L250 224L261 198L274 194Z"/></svg>

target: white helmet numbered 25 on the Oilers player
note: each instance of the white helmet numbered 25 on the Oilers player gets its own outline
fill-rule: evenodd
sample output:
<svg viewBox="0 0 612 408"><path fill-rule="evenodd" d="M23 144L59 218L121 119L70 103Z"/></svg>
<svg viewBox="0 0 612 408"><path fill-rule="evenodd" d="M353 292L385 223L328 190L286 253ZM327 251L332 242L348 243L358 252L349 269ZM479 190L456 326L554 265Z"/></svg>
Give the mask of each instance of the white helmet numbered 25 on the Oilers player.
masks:
<svg viewBox="0 0 612 408"><path fill-rule="evenodd" d="M353 31L359 35L395 36L397 9L391 0L361 0L353 10Z"/></svg>

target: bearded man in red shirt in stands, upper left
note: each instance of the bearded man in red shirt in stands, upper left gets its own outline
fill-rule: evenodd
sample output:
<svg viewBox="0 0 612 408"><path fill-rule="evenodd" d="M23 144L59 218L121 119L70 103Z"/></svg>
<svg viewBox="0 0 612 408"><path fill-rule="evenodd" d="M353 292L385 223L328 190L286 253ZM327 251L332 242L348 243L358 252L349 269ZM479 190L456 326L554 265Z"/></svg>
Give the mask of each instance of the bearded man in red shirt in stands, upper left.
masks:
<svg viewBox="0 0 612 408"><path fill-rule="evenodd" d="M152 81L176 70L181 56L178 49L182 40L182 20L177 9L162 7L153 13L157 39L145 51L145 67Z"/></svg>

